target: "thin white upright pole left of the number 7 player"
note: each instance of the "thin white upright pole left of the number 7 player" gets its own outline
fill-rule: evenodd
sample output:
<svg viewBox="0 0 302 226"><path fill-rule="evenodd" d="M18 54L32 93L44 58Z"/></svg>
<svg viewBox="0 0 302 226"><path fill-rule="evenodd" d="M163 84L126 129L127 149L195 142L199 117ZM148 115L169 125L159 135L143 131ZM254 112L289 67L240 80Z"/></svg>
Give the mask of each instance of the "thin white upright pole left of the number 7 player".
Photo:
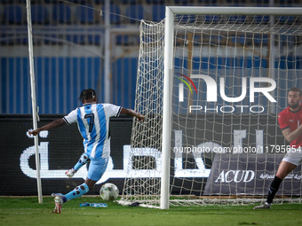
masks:
<svg viewBox="0 0 302 226"><path fill-rule="evenodd" d="M30 0L27 0L27 13L28 13L28 53L29 53L29 73L30 73L30 86L31 86L31 103L32 103L32 110L33 110L33 125L34 125L34 129L37 129L38 116L36 113L36 82L35 82ZM41 176L40 176L38 136L34 136L34 140L35 140L35 149L36 149L36 183L37 183L38 199L39 199L39 203L41 204L43 203L43 196L42 196L42 184L41 184Z"/></svg>

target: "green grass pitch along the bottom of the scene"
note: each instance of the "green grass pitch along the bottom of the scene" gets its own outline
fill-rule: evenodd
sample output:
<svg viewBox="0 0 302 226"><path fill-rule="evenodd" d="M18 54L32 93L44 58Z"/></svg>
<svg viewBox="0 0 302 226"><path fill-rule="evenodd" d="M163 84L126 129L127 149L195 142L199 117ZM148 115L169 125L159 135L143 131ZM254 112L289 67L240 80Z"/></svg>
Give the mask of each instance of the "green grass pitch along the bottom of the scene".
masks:
<svg viewBox="0 0 302 226"><path fill-rule="evenodd" d="M103 202L98 197L68 201L61 214L51 214L52 197L0 198L0 225L302 225L302 205L274 205L253 210L253 206L171 207L168 210L123 207L107 202L108 207L79 207L81 202Z"/></svg>

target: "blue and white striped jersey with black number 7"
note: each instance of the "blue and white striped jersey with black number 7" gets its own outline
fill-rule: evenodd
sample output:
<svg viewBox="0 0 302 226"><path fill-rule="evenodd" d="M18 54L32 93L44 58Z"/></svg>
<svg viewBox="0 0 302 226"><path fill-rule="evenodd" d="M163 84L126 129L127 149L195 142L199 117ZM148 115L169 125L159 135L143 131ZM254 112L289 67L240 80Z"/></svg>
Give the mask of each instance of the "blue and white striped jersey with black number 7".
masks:
<svg viewBox="0 0 302 226"><path fill-rule="evenodd" d="M83 148L91 159L110 156L109 118L118 117L121 106L110 104L85 104L63 117L66 123L77 123L83 136Z"/></svg>

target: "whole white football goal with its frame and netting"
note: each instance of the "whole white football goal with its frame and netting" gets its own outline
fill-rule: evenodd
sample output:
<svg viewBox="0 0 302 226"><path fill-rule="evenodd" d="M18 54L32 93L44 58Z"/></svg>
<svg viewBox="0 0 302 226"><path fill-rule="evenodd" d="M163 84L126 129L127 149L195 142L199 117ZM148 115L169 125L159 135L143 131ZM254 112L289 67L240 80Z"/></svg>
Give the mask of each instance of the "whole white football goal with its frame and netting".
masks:
<svg viewBox="0 0 302 226"><path fill-rule="evenodd" d="M142 21L124 205L266 199L289 144L277 114L302 88L300 8L167 7ZM274 202L300 201L301 167Z"/></svg>

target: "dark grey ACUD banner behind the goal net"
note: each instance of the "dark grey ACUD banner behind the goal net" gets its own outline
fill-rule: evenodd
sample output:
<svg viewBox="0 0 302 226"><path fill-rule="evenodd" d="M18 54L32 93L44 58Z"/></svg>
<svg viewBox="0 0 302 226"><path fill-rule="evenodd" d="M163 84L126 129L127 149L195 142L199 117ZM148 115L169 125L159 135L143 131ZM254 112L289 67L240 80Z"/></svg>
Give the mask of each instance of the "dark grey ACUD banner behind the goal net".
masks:
<svg viewBox="0 0 302 226"><path fill-rule="evenodd" d="M284 154L216 153L204 195L266 195ZM300 195L301 165L282 182L276 195Z"/></svg>

